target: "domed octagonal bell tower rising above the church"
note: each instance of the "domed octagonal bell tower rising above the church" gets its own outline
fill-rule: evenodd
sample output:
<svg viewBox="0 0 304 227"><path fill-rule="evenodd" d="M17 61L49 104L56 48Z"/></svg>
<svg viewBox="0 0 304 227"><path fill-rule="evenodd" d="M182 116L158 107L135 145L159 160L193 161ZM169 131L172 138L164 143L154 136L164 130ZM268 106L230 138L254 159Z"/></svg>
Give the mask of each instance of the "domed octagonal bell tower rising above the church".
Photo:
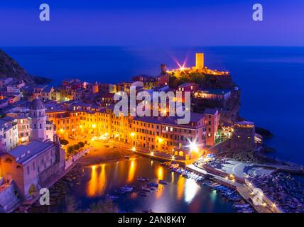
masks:
<svg viewBox="0 0 304 227"><path fill-rule="evenodd" d="M40 99L33 99L30 107L30 118L31 118L31 140L42 140L47 139L46 136L46 114L45 106Z"/></svg>

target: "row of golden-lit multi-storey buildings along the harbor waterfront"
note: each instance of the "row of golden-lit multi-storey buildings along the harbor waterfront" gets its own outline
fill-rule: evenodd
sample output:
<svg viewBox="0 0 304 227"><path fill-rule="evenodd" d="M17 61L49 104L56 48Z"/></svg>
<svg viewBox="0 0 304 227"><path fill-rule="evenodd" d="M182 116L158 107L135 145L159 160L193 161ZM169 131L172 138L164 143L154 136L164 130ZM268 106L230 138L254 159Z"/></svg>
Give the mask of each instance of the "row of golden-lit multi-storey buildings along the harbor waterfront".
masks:
<svg viewBox="0 0 304 227"><path fill-rule="evenodd" d="M129 144L130 148L187 155L188 158L206 146L204 114L192 113L190 123L185 125L178 125L176 117L115 116L110 109L53 110L47 115L60 138L107 135L107 138Z"/></svg>

